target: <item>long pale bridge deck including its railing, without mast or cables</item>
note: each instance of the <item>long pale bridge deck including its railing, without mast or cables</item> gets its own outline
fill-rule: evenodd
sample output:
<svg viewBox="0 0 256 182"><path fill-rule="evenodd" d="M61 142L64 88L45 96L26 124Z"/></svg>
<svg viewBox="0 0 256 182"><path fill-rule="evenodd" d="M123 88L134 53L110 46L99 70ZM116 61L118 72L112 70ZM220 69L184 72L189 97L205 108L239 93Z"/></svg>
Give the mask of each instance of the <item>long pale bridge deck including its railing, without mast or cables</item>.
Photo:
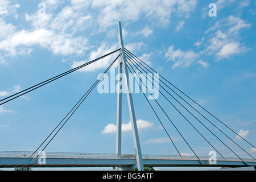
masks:
<svg viewBox="0 0 256 182"><path fill-rule="evenodd" d="M0 151L0 167L127 167L136 165L135 155L46 152L45 160L34 152ZM209 156L143 155L144 166L154 167L242 167L256 166L254 159L217 158L209 164Z"/></svg>

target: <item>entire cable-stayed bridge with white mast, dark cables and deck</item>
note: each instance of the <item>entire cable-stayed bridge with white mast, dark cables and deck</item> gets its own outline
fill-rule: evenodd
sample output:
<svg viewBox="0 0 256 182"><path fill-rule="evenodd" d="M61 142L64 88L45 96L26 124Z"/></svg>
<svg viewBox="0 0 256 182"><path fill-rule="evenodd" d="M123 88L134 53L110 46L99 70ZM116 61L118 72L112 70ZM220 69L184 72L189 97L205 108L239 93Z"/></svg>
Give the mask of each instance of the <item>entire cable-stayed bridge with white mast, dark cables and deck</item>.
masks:
<svg viewBox="0 0 256 182"><path fill-rule="evenodd" d="M247 146L255 150L253 144L245 140L239 134L237 134L230 127L225 125L224 122L220 121L217 117L211 114L208 110L204 109L201 105L195 102L191 97L187 96L174 84L164 78L162 75L159 75L154 69L148 66L143 60L139 59L132 52L126 49L123 46L122 39L122 29L121 23L119 22L119 48L113 52L110 52L104 56L98 57L95 60L89 61L79 67L73 68L67 72L64 72L60 75L52 77L46 81L40 82L34 86L31 86L28 89L25 89L21 92L13 94L12 96L6 97L0 101L0 106L6 104L32 92L35 89L49 84L55 80L58 80L61 77L67 76L70 73L73 73L81 68L84 68L90 64L100 61L105 57L108 57L113 54L118 54L113 62L106 68L105 72L102 73L94 84L89 88L89 90L80 98L75 106L69 111L67 115L62 119L62 121L53 129L53 131L48 135L48 137L40 144L40 146L33 152L22 152L22 151L0 151L0 167L117 167L123 170L138 168L143 170L146 166L154 167L172 167L172 166L200 166L200 167L245 167L245 166L256 166L256 160L251 155L250 151L247 151L240 144L238 144L232 137L229 137L228 134L224 132L222 128L225 127L226 130L229 130L231 133L235 134L240 138ZM45 152L46 147L49 143L55 138L57 133L63 128L65 123L69 121L75 111L80 107L80 105L85 101L89 96L92 90L98 85L101 79L106 75L110 68L113 67L114 63L118 61L118 93L117 93L117 137L116 137L116 154L88 154L88 153L68 153L68 152ZM141 90L146 103L150 106L150 112L154 113L156 121L159 121L160 125L163 127L164 132L166 133L170 143L175 148L177 155L143 155L141 152L141 144L139 142L137 120L135 117L134 103L133 103L133 94L131 92L130 77L129 73L133 76L135 84L138 85L138 88ZM149 75L150 77L146 77ZM153 77L152 75L157 75L158 77ZM122 77L123 76L123 77ZM121 150L121 134L122 134L122 84L125 82L126 85L126 95L129 105L129 114L131 121L131 128L133 132L133 141L135 154L122 154ZM196 154L195 150L184 137L183 132L175 125L175 121L172 119L172 113L166 111L162 104L155 98L151 89L148 88L150 82L151 86L154 86L159 92L160 96L167 101L167 104L172 107L176 113L178 113L181 118L184 119L185 123L188 126L191 126L193 130L206 142L217 156L210 158L209 156L199 156ZM157 85L157 86L156 86ZM147 95L150 95L151 100L148 99ZM157 108L156 108L156 107ZM198 108L200 108L200 111ZM182 111L181 111L182 109ZM160 111L160 114L159 114ZM189 115L189 117L187 116ZM160 117L164 116L164 119ZM196 125L191 122L191 118L194 119L198 125L203 127L209 134L211 138L218 140L222 143L223 146L228 148L229 152L235 156L235 158L228 158L222 152L220 152L217 147L213 144L212 140L209 139ZM180 152L177 142L175 141L168 130L166 129L166 122L172 126L173 130L179 134L182 138L185 145L191 150L192 156L184 155ZM222 127L218 127L217 124ZM210 129L208 125L214 128ZM216 132L218 131L218 133ZM220 137L225 137L229 142L225 142ZM232 146L240 149L240 152L236 152L229 143L232 143ZM246 155L247 158L242 158L241 154Z"/></svg>

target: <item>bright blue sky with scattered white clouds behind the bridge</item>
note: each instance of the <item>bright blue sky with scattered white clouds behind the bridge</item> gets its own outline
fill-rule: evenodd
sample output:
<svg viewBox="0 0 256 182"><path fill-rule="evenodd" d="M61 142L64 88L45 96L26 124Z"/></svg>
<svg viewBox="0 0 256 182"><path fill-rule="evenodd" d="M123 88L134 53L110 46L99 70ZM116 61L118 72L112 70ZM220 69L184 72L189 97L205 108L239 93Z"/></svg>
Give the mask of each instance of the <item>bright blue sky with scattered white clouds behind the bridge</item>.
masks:
<svg viewBox="0 0 256 182"><path fill-rule="evenodd" d="M209 3L216 3L216 17L208 15ZM255 7L250 0L0 0L0 99L114 51L121 21L129 51L255 146ZM115 56L1 105L0 150L36 150ZM212 148L163 98L158 101L196 154L208 156ZM116 94L93 90L46 151L115 153L115 133L106 132L106 126L115 125L116 105ZM142 94L134 95L134 105L142 153L177 155ZM133 154L125 95L122 119L126 129L122 152ZM163 121L181 153L192 154L170 123ZM218 127L255 157L255 149L223 125ZM222 154L234 157L209 138Z"/></svg>

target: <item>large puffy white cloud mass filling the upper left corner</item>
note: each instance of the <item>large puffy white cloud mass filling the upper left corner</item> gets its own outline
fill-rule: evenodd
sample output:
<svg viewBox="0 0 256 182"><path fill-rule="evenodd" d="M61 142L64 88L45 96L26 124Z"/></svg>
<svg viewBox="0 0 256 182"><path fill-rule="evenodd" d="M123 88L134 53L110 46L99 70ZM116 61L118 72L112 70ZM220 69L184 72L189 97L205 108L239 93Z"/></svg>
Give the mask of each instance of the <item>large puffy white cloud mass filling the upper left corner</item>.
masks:
<svg viewBox="0 0 256 182"><path fill-rule="evenodd" d="M43 1L46 13L40 13L40 8L34 14L26 14L26 20L31 23L30 30L19 30L0 19L0 50L8 56L28 55L34 46L48 49L55 55L81 55L88 49L88 39L75 35L83 31L90 20L89 15L76 11L73 6L65 6L56 14L56 7L61 1ZM9 35L9 36L8 36ZM1 40L1 38L4 38Z"/></svg>

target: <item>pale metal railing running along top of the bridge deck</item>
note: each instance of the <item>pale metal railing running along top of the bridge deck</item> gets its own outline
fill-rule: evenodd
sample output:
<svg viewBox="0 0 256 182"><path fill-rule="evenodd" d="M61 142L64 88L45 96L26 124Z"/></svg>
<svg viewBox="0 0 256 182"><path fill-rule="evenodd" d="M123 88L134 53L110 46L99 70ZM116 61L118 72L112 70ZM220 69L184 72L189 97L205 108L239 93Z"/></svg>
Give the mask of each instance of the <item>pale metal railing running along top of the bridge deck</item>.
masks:
<svg viewBox="0 0 256 182"><path fill-rule="evenodd" d="M100 153L80 153L80 152L45 152L45 158L60 159L136 159L133 154L100 154ZM39 152L22 151L0 151L0 158L37 158ZM196 156L177 155L142 155L143 159L150 160L198 160ZM199 156L200 160L209 160L209 156ZM239 158L217 158L218 161L241 162ZM256 162L254 159L242 159L245 162Z"/></svg>

